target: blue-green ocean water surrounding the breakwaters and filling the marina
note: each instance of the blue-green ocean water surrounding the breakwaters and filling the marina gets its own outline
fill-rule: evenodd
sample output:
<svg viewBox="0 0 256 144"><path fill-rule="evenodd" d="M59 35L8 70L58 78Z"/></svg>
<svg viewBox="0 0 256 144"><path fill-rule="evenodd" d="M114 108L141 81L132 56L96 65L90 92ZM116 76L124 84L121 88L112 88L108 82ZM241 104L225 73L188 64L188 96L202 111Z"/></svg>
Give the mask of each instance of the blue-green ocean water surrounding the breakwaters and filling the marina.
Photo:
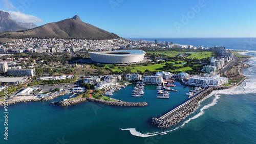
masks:
<svg viewBox="0 0 256 144"><path fill-rule="evenodd" d="M51 101L9 105L8 140L3 135L4 107L0 106L3 115L0 143L256 143L256 39L184 39L158 38L158 41L205 47L220 45L247 51L242 54L253 56L246 62L250 67L244 69L247 79L236 88L212 92L200 102L196 112L169 128L158 128L151 124L151 119L188 99L185 93L189 87L179 82L175 82L174 89L178 91L170 92L170 99L157 99L156 85L146 85L142 98L131 97L134 85L111 96L127 102L147 102L146 107L92 102L60 107L50 104ZM53 101L68 97L64 95Z"/></svg>

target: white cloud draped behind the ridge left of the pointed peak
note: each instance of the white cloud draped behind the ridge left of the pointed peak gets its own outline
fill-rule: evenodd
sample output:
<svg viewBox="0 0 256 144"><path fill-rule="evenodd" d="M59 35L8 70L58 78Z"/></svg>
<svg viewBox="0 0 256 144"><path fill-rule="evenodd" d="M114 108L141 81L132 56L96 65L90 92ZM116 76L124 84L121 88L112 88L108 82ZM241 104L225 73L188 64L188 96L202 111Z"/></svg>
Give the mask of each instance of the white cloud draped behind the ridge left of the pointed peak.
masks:
<svg viewBox="0 0 256 144"><path fill-rule="evenodd" d="M42 20L38 17L35 17L33 15L27 15L24 13L20 12L13 12L13 11L8 11L10 13L10 16L13 20L18 21L18 22L42 22Z"/></svg>

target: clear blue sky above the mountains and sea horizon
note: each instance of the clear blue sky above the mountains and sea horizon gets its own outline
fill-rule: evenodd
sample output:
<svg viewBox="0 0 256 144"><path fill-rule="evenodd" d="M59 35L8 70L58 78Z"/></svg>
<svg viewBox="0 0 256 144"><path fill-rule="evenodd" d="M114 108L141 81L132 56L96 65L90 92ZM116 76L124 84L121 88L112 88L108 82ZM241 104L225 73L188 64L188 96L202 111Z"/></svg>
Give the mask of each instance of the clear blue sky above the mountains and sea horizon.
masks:
<svg viewBox="0 0 256 144"><path fill-rule="evenodd" d="M256 37L255 0L0 0L0 10L37 26L78 15L125 38Z"/></svg>

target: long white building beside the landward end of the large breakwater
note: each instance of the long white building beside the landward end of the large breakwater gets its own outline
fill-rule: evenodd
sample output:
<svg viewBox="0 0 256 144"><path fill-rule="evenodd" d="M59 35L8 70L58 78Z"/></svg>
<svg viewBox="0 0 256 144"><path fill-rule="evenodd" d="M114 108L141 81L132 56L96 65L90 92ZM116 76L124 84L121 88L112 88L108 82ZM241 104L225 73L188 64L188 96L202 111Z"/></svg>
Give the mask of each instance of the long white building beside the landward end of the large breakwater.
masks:
<svg viewBox="0 0 256 144"><path fill-rule="evenodd" d="M199 77L193 76L189 78L189 85L207 87L207 86L221 86L228 83L228 78L220 77L220 75L215 75L212 77Z"/></svg>

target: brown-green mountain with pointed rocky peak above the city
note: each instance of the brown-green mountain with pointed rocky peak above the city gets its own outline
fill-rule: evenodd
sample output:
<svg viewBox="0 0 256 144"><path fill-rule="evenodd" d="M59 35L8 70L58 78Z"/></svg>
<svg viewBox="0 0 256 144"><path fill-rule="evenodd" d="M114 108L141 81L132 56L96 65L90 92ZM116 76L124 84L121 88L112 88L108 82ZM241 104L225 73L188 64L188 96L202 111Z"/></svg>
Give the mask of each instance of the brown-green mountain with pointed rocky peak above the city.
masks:
<svg viewBox="0 0 256 144"><path fill-rule="evenodd" d="M83 22L78 15L58 22L47 23L18 33L5 33L8 38L115 39L118 36Z"/></svg>

